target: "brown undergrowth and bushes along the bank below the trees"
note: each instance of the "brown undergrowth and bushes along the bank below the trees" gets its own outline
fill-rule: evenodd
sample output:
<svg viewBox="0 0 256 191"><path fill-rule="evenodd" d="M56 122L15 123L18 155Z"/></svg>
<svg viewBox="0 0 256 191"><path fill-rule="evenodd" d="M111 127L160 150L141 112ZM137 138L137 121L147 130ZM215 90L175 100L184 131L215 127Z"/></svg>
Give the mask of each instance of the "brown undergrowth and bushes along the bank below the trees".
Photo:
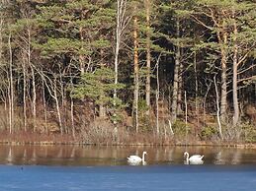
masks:
<svg viewBox="0 0 256 191"><path fill-rule="evenodd" d="M80 113L80 112L79 112ZM85 115L78 115L85 120ZM51 115L52 118L53 115ZM199 118L198 118L199 117ZM48 118L49 120L50 118ZM68 117L66 117L68 119ZM89 120L90 119L90 120ZM156 133L155 118L140 123L139 132L132 127L131 117L123 114L122 120L115 126L108 118L96 117L86 119L83 123L75 123L75 137L72 136L70 124L67 123L65 133L60 134L57 123L49 120L46 124L37 120L36 132L33 128L25 132L22 123L15 123L15 129L9 134L6 121L0 120L0 143L4 144L79 144L79 145L210 145L210 146L234 146L254 147L256 143L256 129L252 124L243 123L237 128L222 126L223 140L219 139L215 116L196 116L190 114L188 123L180 118L170 126L168 117L161 118L159 132ZM18 118L17 120L18 121ZM20 126L18 126L20 124ZM174 135L173 135L174 134Z"/></svg>

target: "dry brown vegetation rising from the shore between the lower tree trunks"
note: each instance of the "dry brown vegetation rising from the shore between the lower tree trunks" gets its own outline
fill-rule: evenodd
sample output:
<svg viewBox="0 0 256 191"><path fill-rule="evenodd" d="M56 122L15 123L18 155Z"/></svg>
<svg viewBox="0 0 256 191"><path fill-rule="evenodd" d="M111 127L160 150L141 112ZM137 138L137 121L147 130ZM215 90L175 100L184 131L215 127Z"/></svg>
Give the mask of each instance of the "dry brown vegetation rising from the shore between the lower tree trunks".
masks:
<svg viewBox="0 0 256 191"><path fill-rule="evenodd" d="M224 143L246 143L253 142L253 129L226 128L224 131L225 140L219 141L216 131L216 118L214 113L204 115L203 109L197 114L193 105L190 105L188 112L188 123L185 123L184 114L180 119L172 124L174 135L171 134L168 124L169 112L167 104L161 104L159 108L159 135L156 134L155 112L150 113L150 118L142 116L140 131L135 132L132 127L132 118L128 112L122 112L122 120L115 125L108 116L96 117L90 106L83 106L83 102L77 102L74 111L75 137L71 134L70 113L62 109L61 116L65 124L65 133L60 135L56 112L48 108L47 120L43 120L43 109L38 110L36 121L37 131L32 128L27 132L23 130L23 120L17 114L15 118L15 131L8 132L8 118L6 118L5 108L2 106L0 118L0 142L15 144L103 144L103 145L211 145ZM39 105L38 108L41 108ZM52 107L53 108L53 107ZM255 121L256 108L253 105L245 107L244 117L251 122ZM16 113L21 113L19 107ZM42 115L40 115L42 114ZM32 121L29 121L29 126ZM148 125L150 124L150 125ZM31 126L32 127L32 126ZM246 128L248 128L246 126ZM245 135L247 133L247 135ZM248 142L248 140L247 140Z"/></svg>

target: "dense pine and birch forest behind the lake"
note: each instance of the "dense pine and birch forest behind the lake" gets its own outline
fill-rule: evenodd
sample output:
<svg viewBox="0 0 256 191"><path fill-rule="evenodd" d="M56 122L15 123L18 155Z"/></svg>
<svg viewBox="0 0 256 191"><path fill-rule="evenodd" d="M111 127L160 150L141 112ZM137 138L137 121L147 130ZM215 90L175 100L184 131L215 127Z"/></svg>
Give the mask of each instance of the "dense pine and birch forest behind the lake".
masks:
<svg viewBox="0 0 256 191"><path fill-rule="evenodd" d="M255 0L1 0L1 139L255 142L255 27Z"/></svg>

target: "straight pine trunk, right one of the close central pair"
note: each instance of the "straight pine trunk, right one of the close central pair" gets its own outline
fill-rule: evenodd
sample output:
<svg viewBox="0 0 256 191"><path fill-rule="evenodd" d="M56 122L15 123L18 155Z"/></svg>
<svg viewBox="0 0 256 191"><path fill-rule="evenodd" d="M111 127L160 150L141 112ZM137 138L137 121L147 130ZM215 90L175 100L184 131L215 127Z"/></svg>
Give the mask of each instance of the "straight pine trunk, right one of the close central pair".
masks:
<svg viewBox="0 0 256 191"><path fill-rule="evenodd" d="M150 113L150 75L151 75L151 55L150 55L150 0L145 0L146 9L146 83L145 83L145 99L146 99L146 115Z"/></svg>

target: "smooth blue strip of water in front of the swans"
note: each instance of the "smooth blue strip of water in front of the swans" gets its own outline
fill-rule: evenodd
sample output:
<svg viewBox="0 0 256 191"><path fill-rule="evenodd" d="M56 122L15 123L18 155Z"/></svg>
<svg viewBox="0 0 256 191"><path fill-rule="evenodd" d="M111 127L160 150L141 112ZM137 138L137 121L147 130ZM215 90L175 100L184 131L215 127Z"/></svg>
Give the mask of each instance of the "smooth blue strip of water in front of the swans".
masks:
<svg viewBox="0 0 256 191"><path fill-rule="evenodd" d="M255 165L0 165L0 191L255 189Z"/></svg>

